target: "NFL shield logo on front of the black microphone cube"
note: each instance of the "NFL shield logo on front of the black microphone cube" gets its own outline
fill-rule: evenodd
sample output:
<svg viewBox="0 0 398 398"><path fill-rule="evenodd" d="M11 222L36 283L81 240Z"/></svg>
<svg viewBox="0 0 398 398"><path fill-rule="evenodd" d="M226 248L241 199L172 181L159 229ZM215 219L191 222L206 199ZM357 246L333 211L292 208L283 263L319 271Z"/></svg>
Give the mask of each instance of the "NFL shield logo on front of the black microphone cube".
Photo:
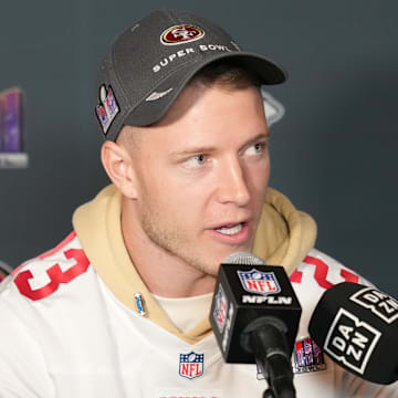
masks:
<svg viewBox="0 0 398 398"><path fill-rule="evenodd" d="M238 275L243 289L249 293L266 295L281 292L281 286L273 272L261 272L253 269L250 272L238 271Z"/></svg>

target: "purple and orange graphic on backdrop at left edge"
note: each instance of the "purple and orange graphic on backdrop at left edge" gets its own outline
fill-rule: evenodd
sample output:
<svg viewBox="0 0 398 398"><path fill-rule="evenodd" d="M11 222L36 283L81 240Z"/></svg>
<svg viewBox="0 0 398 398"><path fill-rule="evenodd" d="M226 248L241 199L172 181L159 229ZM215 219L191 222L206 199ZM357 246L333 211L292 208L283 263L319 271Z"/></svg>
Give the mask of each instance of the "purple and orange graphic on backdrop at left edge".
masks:
<svg viewBox="0 0 398 398"><path fill-rule="evenodd" d="M22 94L20 88L11 88L3 94L2 129L2 151L22 151Z"/></svg>

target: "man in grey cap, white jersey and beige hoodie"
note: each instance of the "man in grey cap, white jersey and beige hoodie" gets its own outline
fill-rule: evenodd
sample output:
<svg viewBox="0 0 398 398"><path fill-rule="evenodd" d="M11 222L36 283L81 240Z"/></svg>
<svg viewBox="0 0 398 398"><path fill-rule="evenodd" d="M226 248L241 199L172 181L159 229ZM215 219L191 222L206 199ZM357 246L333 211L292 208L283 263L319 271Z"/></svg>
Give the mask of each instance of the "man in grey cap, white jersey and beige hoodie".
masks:
<svg viewBox="0 0 398 398"><path fill-rule="evenodd" d="M262 375L222 362L208 320L219 264L238 251L285 268L297 341L312 344L324 290L363 280L313 249L314 221L268 188L259 86L284 80L190 13L156 11L116 39L96 105L113 185L1 284L1 397L260 397ZM327 358L307 368L298 397L392 394Z"/></svg>

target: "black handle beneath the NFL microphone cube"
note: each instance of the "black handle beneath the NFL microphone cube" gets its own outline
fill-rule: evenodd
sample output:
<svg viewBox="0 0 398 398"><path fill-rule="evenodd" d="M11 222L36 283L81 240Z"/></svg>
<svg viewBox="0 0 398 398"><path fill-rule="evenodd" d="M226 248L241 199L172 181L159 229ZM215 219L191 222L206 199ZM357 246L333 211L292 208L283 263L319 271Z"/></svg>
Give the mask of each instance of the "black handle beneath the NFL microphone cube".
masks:
<svg viewBox="0 0 398 398"><path fill-rule="evenodd" d="M263 398L296 397L291 358L280 323L280 320L264 317L247 328L250 350L269 385Z"/></svg>

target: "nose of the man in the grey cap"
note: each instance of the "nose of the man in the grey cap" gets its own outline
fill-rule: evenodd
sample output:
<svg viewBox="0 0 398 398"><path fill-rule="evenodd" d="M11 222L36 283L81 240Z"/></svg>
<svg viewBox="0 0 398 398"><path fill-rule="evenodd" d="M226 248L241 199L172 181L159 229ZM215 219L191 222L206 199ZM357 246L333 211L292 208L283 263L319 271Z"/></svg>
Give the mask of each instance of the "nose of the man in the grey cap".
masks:
<svg viewBox="0 0 398 398"><path fill-rule="evenodd" d="M218 199L221 203L233 202L243 207L250 201L244 169L238 158L222 165L219 175Z"/></svg>

